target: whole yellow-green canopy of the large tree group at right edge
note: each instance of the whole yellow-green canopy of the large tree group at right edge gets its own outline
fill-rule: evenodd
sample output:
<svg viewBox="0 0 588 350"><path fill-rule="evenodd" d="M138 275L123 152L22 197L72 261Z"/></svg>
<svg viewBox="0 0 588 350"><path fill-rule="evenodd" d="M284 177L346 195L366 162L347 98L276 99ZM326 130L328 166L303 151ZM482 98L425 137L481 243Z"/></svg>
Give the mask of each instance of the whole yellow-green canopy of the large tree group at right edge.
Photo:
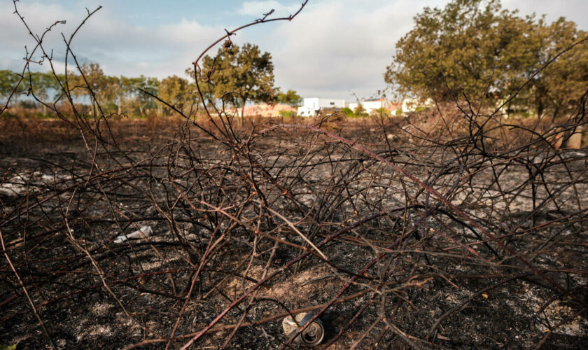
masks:
<svg viewBox="0 0 588 350"><path fill-rule="evenodd" d="M416 15L384 80L403 96L503 101L587 36L574 22L523 18L499 0L454 0ZM581 43L540 71L513 104L556 114L577 102L587 81L588 45Z"/></svg>

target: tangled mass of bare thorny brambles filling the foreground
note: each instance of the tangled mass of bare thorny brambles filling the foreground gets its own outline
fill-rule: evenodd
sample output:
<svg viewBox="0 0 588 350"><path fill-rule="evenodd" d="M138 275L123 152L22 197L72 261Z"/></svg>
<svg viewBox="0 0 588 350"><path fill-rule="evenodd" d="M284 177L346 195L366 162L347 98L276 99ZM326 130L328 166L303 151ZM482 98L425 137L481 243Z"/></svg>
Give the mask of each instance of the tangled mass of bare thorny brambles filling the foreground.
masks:
<svg viewBox="0 0 588 350"><path fill-rule="evenodd" d="M446 330L463 319L489 327L483 320L496 314L485 309L525 317L518 304L535 309L510 344L524 334L519 346L541 346L585 319L588 153L561 145L585 130L588 92L559 123L505 120L502 106L454 97L424 117L235 125L204 93L214 73L198 62L219 43L227 52L241 29L293 20L304 1L288 17L270 10L225 30L206 48L193 62L190 112L141 90L183 121L165 144L137 150L104 115L71 48L99 8L62 37L63 80L43 38L64 22L34 34L17 3L36 45L0 117L20 84L34 84L31 64L47 62L61 92L31 97L74 127L86 152L32 172L0 163L0 322L37 322L45 338L31 346L55 348L52 314L89 309L92 295L120 311L120 332L136 330L117 343L127 349L285 349L305 327L286 337L275 321L307 311L332 325L344 315L323 346L354 349L451 347L464 337L487 346L475 330ZM83 86L70 85L67 64ZM89 107L73 89L87 90ZM120 239L133 231L139 239ZM567 314L547 312L561 305Z"/></svg>

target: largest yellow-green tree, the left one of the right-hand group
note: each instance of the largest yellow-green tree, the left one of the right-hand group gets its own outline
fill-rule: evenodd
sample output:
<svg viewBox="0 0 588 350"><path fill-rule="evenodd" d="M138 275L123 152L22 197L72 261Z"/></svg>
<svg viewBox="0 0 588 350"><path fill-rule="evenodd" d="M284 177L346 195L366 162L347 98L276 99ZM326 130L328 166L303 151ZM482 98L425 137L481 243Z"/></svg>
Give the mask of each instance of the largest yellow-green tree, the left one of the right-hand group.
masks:
<svg viewBox="0 0 588 350"><path fill-rule="evenodd" d="M384 79L400 94L469 99L502 94L536 66L533 18L502 10L498 0L454 0L425 8L396 43ZM526 68L526 69L525 69Z"/></svg>

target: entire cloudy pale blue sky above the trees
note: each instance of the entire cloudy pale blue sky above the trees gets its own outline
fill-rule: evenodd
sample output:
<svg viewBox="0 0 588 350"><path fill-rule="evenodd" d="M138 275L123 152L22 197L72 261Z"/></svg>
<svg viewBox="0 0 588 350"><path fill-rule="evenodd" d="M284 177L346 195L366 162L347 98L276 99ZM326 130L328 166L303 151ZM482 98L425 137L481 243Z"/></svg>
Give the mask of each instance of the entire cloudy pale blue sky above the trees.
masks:
<svg viewBox="0 0 588 350"><path fill-rule="evenodd" d="M80 63L97 62L114 76L178 75L210 43L225 33L262 17L287 17L302 0L20 0L18 10L34 34L56 20L66 20L45 36L55 67L65 70L64 38L69 39L87 10L102 9L73 38ZM263 23L233 36L237 45L255 43L272 54L276 86L302 97L353 101L384 90L384 71L394 45L412 28L425 6L443 7L447 0L309 0L293 21ZM586 0L503 0L521 15L563 16L588 30ZM13 0L0 0L0 69L22 71L27 48L34 46L14 14ZM210 53L216 52L213 48ZM46 69L47 64L36 69ZM71 66L69 66L71 69Z"/></svg>

